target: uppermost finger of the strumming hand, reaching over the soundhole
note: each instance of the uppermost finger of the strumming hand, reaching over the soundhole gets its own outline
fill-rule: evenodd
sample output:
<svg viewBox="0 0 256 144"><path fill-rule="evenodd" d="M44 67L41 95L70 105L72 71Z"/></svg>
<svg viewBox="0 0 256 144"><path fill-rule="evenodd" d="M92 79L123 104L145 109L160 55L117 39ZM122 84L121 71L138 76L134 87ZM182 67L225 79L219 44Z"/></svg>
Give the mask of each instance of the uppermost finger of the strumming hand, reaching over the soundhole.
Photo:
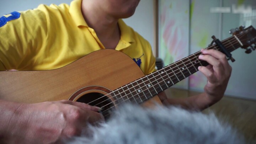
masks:
<svg viewBox="0 0 256 144"><path fill-rule="evenodd" d="M62 100L61 102L65 103L65 104L77 106L77 107L82 108L82 109L95 111L95 112L98 112L98 111L102 110L102 108L100 108L100 107L91 106L91 105L88 105L88 104L83 103L83 102L76 102L76 101L69 101L69 100Z"/></svg>

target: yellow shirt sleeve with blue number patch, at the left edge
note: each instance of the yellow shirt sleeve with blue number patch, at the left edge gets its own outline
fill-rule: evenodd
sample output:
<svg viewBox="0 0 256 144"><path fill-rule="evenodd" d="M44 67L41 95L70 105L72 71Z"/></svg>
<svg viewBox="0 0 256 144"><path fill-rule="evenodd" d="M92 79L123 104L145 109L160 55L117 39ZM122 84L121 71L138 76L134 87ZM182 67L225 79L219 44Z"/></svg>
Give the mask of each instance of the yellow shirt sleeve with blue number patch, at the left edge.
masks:
<svg viewBox="0 0 256 144"><path fill-rule="evenodd" d="M47 35L41 10L11 12L0 18L0 70L22 69Z"/></svg>

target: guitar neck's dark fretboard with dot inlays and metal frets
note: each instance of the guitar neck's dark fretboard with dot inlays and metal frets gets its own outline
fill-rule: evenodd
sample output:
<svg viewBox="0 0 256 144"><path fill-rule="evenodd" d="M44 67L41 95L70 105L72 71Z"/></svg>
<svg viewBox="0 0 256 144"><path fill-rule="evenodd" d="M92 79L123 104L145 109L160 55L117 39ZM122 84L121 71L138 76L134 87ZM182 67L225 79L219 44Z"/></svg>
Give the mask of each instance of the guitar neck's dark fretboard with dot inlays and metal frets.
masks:
<svg viewBox="0 0 256 144"><path fill-rule="evenodd" d="M241 47L241 42L236 36L224 39L222 44L228 52L232 52ZM221 51L216 44L209 46L206 49L216 49ZM207 66L208 63L206 61L198 59L200 54L202 54L201 51L198 51L175 63L167 65L154 73L145 75L140 79L119 87L113 91L114 97L118 100L118 103L145 102L149 98L175 85L193 73L196 73L198 71L198 66Z"/></svg>

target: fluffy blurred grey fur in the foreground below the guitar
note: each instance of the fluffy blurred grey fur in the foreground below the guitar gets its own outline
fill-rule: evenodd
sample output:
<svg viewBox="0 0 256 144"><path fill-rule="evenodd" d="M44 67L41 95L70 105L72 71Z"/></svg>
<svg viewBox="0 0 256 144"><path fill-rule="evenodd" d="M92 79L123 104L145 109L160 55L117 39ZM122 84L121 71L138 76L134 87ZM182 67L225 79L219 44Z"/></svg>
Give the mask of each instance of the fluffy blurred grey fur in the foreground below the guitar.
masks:
<svg viewBox="0 0 256 144"><path fill-rule="evenodd" d="M85 133L88 133L85 132ZM244 144L228 123L213 113L190 112L178 107L138 105L120 107L107 122L90 126L90 136L76 137L75 144Z"/></svg>

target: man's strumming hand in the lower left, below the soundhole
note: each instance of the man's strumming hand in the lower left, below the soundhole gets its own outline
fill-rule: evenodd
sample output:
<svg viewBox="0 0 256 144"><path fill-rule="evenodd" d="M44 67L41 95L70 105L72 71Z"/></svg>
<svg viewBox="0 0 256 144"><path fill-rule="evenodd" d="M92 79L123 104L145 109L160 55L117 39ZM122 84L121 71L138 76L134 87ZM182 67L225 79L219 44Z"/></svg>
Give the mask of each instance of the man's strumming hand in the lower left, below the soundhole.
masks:
<svg viewBox="0 0 256 144"><path fill-rule="evenodd" d="M10 143L56 143L102 120L100 108L68 100L22 104L9 123Z"/></svg>

